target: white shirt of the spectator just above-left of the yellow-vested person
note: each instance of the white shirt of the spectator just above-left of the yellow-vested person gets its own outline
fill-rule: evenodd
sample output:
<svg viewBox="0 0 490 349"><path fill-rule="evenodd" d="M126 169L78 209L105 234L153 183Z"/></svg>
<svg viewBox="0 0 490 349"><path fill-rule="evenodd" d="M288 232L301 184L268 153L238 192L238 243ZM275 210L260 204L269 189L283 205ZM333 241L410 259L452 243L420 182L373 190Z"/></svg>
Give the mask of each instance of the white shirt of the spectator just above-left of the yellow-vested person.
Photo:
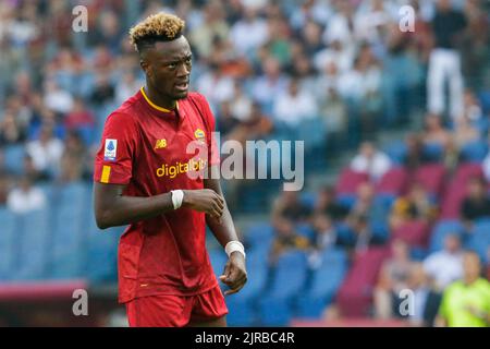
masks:
<svg viewBox="0 0 490 349"><path fill-rule="evenodd" d="M441 289L463 277L463 255L439 251L424 261L424 270Z"/></svg>

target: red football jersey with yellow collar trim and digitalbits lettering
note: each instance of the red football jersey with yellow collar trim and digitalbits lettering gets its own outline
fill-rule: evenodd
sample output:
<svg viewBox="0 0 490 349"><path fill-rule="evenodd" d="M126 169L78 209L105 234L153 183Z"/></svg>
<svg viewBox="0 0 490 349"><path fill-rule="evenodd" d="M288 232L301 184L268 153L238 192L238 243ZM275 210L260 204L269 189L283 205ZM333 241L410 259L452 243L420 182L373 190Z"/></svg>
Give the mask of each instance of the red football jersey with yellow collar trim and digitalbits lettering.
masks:
<svg viewBox="0 0 490 349"><path fill-rule="evenodd" d="M219 164L213 131L215 118L203 95L189 93L175 110L167 110L142 88L107 118L94 180L127 184L128 196L204 189L201 177L187 174ZM193 141L198 148L186 154ZM193 296L218 285L206 251L205 214L193 209L181 207L130 225L118 260L123 303L150 294Z"/></svg>

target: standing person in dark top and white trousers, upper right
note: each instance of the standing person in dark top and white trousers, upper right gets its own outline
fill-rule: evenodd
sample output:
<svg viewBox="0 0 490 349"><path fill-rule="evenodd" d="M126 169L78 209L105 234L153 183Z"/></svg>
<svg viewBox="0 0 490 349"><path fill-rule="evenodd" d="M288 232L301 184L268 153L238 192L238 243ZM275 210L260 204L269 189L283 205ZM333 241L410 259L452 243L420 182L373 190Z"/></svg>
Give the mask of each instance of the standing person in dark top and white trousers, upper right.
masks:
<svg viewBox="0 0 490 349"><path fill-rule="evenodd" d="M438 0L432 20L434 46L430 53L427 77L428 109L436 115L444 111L444 82L450 85L450 116L453 120L463 113L463 76L461 67L462 35L466 16L451 8L450 0Z"/></svg>

